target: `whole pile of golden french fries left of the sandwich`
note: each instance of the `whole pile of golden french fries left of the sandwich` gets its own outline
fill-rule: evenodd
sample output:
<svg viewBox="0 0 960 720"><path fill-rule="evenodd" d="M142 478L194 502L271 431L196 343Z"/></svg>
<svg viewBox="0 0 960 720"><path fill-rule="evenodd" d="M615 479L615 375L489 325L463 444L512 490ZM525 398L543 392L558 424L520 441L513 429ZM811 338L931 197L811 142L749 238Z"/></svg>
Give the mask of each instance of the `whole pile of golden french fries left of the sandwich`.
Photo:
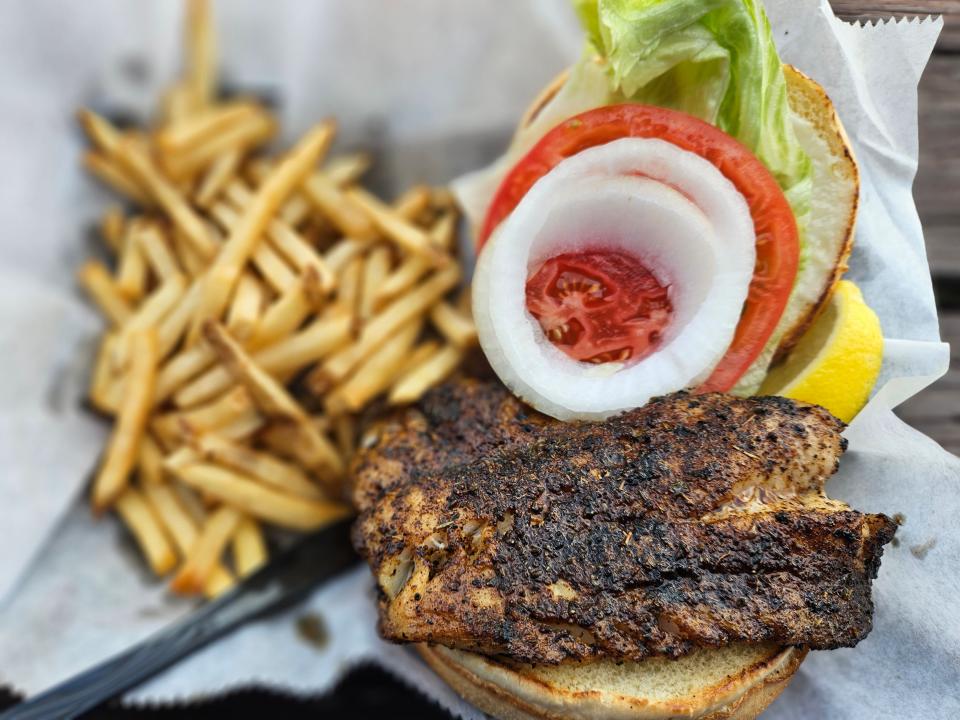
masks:
<svg viewBox="0 0 960 720"><path fill-rule="evenodd" d="M212 597L266 561L263 524L350 513L358 416L417 400L476 332L451 297L447 191L378 199L357 184L367 157L326 159L331 121L263 154L276 119L217 98L205 0L188 2L186 47L157 127L80 112L84 164L125 203L101 224L113 267L79 279L108 324L90 401L115 418L93 507L117 511L174 591Z"/></svg>

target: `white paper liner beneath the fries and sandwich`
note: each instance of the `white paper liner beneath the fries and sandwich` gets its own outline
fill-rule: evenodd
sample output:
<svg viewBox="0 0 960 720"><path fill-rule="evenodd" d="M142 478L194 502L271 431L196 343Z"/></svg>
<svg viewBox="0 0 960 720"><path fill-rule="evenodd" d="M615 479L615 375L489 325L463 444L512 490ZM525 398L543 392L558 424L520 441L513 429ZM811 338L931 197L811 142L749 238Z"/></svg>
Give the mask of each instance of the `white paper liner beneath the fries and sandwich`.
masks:
<svg viewBox="0 0 960 720"><path fill-rule="evenodd" d="M827 88L855 145L864 182L850 277L887 338L881 389L848 430L850 450L829 490L858 509L901 512L906 523L875 584L873 633L854 649L812 655L765 717L960 717L960 460L889 409L942 375L949 359L911 196L916 84L942 23L855 27L837 21L825 0L766 4L784 60ZM10 109L0 114L7 160L0 260L29 288L0 276L0 320L16 328L0 330L0 525L14 529L0 551L0 595L42 548L0 607L0 683L30 693L193 607L149 577L121 528L93 522L84 502L44 545L82 487L104 433L76 411L75 400L54 412L43 394L73 392L76 399L78 384L56 378L95 323L75 305L70 286L87 252L85 223L102 210L105 195L79 172L69 116L91 94L122 96L134 112L148 109L178 62L176 6L43 0L8 8L0 24L0 101ZM379 178L394 190L420 177L449 180L491 159L502 147L496 139L507 137L529 99L579 52L565 0L495 7L287 0L269 10L254 0L218 4L227 77L282 89L293 131L336 113L347 144L372 141L387 151ZM118 57L131 54L145 60L146 83L116 72ZM44 390L31 394L30 387ZM322 649L295 630L306 613L319 615L329 630ZM198 653L130 699L189 699L258 682L315 694L369 659L454 714L480 717L412 651L379 640L364 568L303 607Z"/></svg>

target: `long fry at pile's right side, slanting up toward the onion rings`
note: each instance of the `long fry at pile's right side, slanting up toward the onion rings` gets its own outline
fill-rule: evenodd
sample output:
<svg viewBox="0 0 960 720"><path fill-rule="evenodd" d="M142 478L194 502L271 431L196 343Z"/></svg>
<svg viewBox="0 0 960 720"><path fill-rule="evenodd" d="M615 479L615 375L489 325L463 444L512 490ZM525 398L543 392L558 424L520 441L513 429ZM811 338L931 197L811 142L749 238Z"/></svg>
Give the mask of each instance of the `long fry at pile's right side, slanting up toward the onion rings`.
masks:
<svg viewBox="0 0 960 720"><path fill-rule="evenodd" d="M402 325L425 312L459 279L460 268L451 263L416 289L395 299L364 326L353 345L332 355L319 367L314 386L333 385L342 381L366 356L383 345Z"/></svg>

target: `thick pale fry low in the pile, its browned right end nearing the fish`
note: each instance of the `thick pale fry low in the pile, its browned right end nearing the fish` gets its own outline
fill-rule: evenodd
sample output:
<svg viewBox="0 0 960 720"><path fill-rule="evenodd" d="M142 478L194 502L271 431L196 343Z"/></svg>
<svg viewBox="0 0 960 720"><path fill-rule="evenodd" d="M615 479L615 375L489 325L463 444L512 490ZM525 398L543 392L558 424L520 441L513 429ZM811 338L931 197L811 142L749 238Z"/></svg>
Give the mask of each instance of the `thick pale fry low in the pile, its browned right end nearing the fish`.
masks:
<svg viewBox="0 0 960 720"><path fill-rule="evenodd" d="M292 497L216 465L190 465L177 476L196 490L281 527L315 530L350 515L340 503Z"/></svg>

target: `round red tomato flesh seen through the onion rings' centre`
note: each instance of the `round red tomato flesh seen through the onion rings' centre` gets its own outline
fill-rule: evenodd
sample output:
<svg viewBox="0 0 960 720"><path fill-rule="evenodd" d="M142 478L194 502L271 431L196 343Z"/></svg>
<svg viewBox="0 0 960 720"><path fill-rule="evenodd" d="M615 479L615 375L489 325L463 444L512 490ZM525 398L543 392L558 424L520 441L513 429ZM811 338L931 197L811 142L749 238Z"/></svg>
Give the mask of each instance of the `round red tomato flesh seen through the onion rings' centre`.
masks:
<svg viewBox="0 0 960 720"><path fill-rule="evenodd" d="M633 255L565 253L527 279L527 309L574 360L628 362L660 342L673 307L667 288Z"/></svg>

